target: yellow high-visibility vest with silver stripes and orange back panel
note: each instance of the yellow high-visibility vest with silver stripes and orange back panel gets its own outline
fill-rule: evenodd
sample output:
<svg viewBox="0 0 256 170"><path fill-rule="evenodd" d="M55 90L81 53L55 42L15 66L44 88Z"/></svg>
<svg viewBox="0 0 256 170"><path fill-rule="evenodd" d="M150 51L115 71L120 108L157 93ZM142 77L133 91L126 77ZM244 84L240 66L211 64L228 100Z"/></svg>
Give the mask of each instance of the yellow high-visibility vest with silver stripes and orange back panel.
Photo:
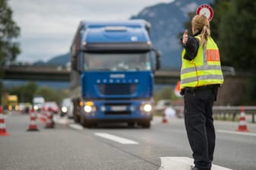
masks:
<svg viewBox="0 0 256 170"><path fill-rule="evenodd" d="M200 39L200 36L196 36L196 38ZM192 61L184 59L185 53L186 49L181 54L181 89L224 82L219 60L219 48L210 36L207 39L206 48L200 45L197 56Z"/></svg>

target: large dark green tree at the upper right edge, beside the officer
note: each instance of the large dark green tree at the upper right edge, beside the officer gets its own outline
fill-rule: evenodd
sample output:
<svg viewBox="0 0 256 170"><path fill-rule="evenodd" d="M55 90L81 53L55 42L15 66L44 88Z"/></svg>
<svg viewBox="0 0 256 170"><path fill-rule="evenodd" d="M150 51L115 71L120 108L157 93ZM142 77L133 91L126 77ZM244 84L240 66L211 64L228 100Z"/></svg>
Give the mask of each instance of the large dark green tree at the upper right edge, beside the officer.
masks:
<svg viewBox="0 0 256 170"><path fill-rule="evenodd" d="M224 65L255 71L256 2L233 0L219 24L219 49Z"/></svg>

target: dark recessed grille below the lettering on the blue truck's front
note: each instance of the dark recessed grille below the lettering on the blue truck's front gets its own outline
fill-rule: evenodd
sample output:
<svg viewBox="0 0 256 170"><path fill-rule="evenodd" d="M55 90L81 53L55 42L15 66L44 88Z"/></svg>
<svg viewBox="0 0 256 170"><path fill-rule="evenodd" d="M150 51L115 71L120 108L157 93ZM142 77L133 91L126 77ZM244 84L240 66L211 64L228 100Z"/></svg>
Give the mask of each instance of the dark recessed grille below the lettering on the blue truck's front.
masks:
<svg viewBox="0 0 256 170"><path fill-rule="evenodd" d="M136 83L98 84L98 90L104 95L129 95L135 93L136 88Z"/></svg>

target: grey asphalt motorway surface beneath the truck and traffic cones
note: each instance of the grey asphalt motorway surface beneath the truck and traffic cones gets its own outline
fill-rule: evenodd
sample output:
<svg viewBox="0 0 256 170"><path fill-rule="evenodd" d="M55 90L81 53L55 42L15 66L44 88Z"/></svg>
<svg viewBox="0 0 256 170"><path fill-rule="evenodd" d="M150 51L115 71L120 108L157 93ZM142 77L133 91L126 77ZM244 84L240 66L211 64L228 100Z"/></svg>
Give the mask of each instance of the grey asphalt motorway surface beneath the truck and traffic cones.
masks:
<svg viewBox="0 0 256 170"><path fill-rule="evenodd" d="M56 127L28 132L28 115L5 116L8 137L0 136L1 170L188 170L193 163L182 118L152 121L152 128L127 128L126 124L101 124L82 128L55 116ZM249 133L237 133L238 122L216 121L213 170L256 169L256 124Z"/></svg>

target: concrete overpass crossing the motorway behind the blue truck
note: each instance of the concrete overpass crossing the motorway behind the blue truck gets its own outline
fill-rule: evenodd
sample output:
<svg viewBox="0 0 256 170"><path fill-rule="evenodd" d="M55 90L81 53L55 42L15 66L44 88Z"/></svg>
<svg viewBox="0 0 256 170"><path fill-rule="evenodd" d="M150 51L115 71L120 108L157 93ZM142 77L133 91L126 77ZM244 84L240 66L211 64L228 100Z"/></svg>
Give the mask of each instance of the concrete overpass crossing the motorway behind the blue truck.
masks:
<svg viewBox="0 0 256 170"><path fill-rule="evenodd" d="M10 65L5 66L4 80L49 80L68 82L70 69L62 66ZM155 71L155 83L177 83L180 71Z"/></svg>

